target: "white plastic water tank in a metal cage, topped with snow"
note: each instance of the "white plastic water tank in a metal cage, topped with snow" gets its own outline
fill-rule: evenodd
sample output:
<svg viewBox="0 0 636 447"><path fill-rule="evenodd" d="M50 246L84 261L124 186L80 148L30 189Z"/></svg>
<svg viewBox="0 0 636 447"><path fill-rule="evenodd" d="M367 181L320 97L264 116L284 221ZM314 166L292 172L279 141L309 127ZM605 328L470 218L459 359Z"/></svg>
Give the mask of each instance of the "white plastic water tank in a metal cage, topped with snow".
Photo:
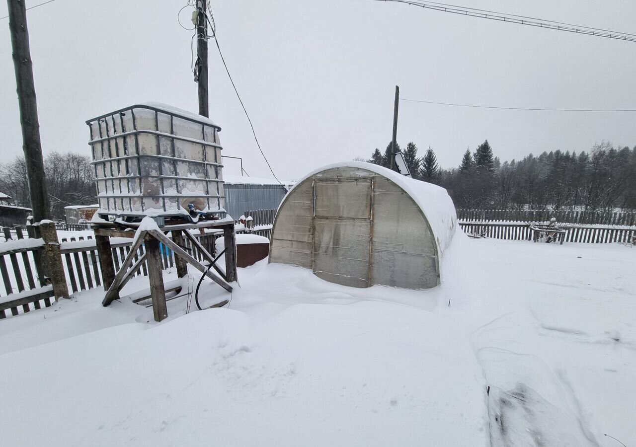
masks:
<svg viewBox="0 0 636 447"><path fill-rule="evenodd" d="M135 104L86 121L100 215L225 213L221 128L164 104ZM196 217L195 217L196 219Z"/></svg>

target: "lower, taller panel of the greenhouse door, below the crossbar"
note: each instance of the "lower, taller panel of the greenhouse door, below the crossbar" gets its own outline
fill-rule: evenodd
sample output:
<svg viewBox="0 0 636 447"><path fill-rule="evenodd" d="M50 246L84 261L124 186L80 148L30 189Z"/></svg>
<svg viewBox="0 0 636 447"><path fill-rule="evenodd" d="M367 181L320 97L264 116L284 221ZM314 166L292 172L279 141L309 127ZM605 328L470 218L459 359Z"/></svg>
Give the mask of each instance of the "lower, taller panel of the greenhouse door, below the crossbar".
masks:
<svg viewBox="0 0 636 447"><path fill-rule="evenodd" d="M336 284L369 285L371 221L314 220L314 273Z"/></svg>

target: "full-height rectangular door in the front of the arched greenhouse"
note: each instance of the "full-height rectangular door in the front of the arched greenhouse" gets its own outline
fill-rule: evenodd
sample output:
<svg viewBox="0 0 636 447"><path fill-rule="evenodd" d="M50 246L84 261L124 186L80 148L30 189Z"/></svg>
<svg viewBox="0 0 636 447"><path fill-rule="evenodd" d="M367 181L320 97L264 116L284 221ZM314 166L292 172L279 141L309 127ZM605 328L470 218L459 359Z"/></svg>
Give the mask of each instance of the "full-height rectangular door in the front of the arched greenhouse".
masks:
<svg viewBox="0 0 636 447"><path fill-rule="evenodd" d="M314 181L314 273L353 287L370 285L371 179Z"/></svg>

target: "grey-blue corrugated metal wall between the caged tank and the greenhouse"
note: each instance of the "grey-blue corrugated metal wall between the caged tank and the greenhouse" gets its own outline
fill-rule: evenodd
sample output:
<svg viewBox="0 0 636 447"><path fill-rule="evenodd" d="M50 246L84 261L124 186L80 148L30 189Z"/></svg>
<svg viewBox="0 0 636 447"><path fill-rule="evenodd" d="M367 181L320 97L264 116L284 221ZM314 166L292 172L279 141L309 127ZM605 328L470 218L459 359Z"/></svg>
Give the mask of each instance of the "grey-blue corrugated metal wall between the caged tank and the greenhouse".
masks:
<svg viewBox="0 0 636 447"><path fill-rule="evenodd" d="M230 184L225 189L225 209L239 219L245 210L277 209L287 191L275 184Z"/></svg>

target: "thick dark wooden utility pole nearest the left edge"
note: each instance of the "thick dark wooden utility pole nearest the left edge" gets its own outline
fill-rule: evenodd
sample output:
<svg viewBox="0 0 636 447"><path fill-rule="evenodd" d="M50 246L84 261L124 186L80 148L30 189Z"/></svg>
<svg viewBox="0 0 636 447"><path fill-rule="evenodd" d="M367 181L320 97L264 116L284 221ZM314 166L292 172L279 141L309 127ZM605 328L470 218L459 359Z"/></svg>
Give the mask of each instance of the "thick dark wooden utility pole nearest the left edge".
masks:
<svg viewBox="0 0 636 447"><path fill-rule="evenodd" d="M24 0L7 0L9 7L9 31L13 47L15 83L20 106L20 127L22 127L22 149L27 165L27 181L34 222L50 219L50 206L46 193L44 160L39 135L38 104L33 83L33 63L29 49L27 10Z"/></svg>

